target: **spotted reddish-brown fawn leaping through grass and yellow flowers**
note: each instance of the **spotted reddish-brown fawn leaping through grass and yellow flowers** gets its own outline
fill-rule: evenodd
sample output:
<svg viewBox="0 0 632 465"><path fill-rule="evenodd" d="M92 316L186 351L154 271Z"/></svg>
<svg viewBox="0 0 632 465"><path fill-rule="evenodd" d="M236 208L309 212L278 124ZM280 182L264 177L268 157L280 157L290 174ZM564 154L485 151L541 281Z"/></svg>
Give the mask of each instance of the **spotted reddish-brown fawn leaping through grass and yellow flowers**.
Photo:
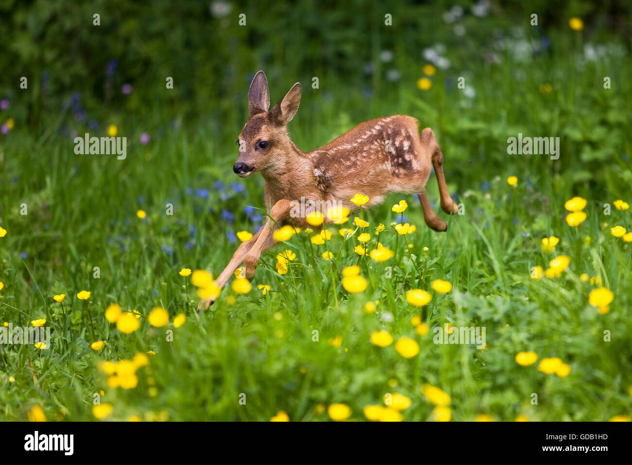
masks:
<svg viewBox="0 0 632 465"><path fill-rule="evenodd" d="M417 121L411 116L388 116L366 121L311 152L302 152L289 138L286 126L298 110L301 85L297 82L270 111L268 82L258 71L248 90L248 121L241 130L240 154L233 166L238 176L253 173L264 177L264 197L270 218L242 242L226 269L217 277L221 289L241 263L252 280L261 254L274 244L272 232L284 224L308 227L305 217L290 216L301 198L329 201L353 210L355 194L368 195L367 208L379 204L389 192L418 194L423 218L435 231L446 223L430 207L424 189L434 166L441 209L456 214L458 207L447 192L443 154L430 128L419 137ZM327 224L331 220L325 218ZM198 309L207 309L214 299L202 299Z"/></svg>

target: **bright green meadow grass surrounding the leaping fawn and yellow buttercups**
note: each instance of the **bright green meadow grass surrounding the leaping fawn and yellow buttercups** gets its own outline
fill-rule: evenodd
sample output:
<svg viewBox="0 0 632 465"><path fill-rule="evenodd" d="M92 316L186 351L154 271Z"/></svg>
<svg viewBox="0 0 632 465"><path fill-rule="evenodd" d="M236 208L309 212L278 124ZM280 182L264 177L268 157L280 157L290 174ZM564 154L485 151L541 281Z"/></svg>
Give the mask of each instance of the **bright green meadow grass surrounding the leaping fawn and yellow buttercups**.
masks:
<svg viewBox="0 0 632 465"><path fill-rule="evenodd" d="M344 80L317 90L304 86L301 108L289 125L301 149L324 145L368 118L415 116L422 127L435 130L449 190L465 206L462 216L440 213L449 221L447 233L428 230L413 196L391 195L365 212L370 244L374 226L384 223L380 242L394 249L390 225L399 214L391 206L400 199L408 201L406 221L416 232L406 236L410 248L399 240L396 263L360 259L368 288L359 294L341 287L341 270L358 263L357 233L344 242L338 227L330 226L332 239L325 245L311 247L301 232L264 254L250 293L235 295L226 287L209 311L195 312L195 287L178 271L202 269L217 276L236 248L227 233L254 233L263 221L244 212L245 206L263 208L262 180L239 180L231 173L243 109L219 130L203 118L173 129L157 112L112 114L119 135L128 140L152 128L150 144L128 146L125 161L76 156L71 139L56 133L59 121L40 132L16 123L0 144L0 226L7 230L0 238L0 319L24 326L46 318L53 340L50 350L1 348L0 419L25 420L35 405L49 419L60 409L67 420L94 419L94 394L103 390L101 402L113 406L109 419L267 421L286 411L293 421L325 420L322 405L334 402L348 404L351 419L364 419L363 407L383 404L385 394L398 392L412 401L404 419L427 420L434 406L420 392L423 383L451 395L454 420L470 421L477 414L505 421L518 414L532 421L629 416L632 244L610 228L632 228L632 213L613 206L606 216L604 204L632 202L632 92L626 78L631 62L629 55L607 55L585 63L581 45L568 42L529 63L509 54L501 65L455 59L453 68L432 77L427 92L415 87L422 74L413 58L399 63L407 71L398 85L383 85L370 99ZM454 85L444 87L444 78L454 82L461 75L471 76L475 97L463 96ZM604 75L612 78L610 90L603 89ZM274 101L292 79L272 85ZM538 90L543 83L552 85L550 94ZM560 159L507 155L506 139L518 132L561 137ZM518 177L515 187L506 182L511 175ZM217 189L218 180L226 187ZM237 192L232 182L245 190ZM208 189L208 195L198 195L198 189ZM571 228L564 202L574 195L588 200L587 219ZM439 198L434 176L428 196ZM168 203L173 216L166 214ZM20 214L21 204L27 204L27 215ZM140 220L138 209L147 211L147 218ZM233 213L234 220L224 219L222 211ZM550 235L560 239L552 254L540 246ZM296 259L288 274L279 275L275 254L284 249ZM321 259L327 250L336 259ZM558 255L571 258L561 277L530 278L533 266L546 269ZM95 266L100 278L93 277ZM391 278L386 266L392 267ZM582 273L600 276L612 290L609 313L588 304L598 285L581 280ZM453 290L437 294L430 287L435 279L451 282ZM262 295L260 284L271 291ZM432 294L427 306L406 302L406 291L414 288ZM92 292L87 304L77 299L80 290ZM66 320L52 300L61 293ZM368 301L379 302L375 313L363 309ZM142 314L137 332L125 335L106 321L112 302ZM95 338L105 341L99 352L90 349L86 306ZM150 326L147 315L156 306L166 308L172 320L185 313L185 325ZM410 322L415 315L430 325L430 333L416 334ZM487 348L434 344L432 328L448 322L485 326ZM419 354L406 359L394 344L371 344L371 333L382 329L395 341L415 339ZM173 330L173 342L167 342L167 330ZM336 337L342 338L340 347L329 342ZM148 350L155 356L138 369L135 388L110 388L97 368L99 361L131 359ZM571 373L561 378L538 371L538 363L520 366L514 357L526 350L537 353L538 363L560 357Z"/></svg>

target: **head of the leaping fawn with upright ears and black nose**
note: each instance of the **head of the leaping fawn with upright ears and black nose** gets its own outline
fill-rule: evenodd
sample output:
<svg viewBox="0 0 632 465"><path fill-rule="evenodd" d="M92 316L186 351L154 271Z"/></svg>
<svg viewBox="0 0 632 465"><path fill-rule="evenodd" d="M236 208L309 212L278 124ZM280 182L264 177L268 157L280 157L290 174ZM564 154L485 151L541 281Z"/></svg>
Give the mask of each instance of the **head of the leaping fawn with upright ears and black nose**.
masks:
<svg viewBox="0 0 632 465"><path fill-rule="evenodd" d="M242 178L281 166L295 147L286 125L301 101L297 82L270 111L270 91L264 71L259 71L248 90L248 122L239 135L239 157L233 171Z"/></svg>

